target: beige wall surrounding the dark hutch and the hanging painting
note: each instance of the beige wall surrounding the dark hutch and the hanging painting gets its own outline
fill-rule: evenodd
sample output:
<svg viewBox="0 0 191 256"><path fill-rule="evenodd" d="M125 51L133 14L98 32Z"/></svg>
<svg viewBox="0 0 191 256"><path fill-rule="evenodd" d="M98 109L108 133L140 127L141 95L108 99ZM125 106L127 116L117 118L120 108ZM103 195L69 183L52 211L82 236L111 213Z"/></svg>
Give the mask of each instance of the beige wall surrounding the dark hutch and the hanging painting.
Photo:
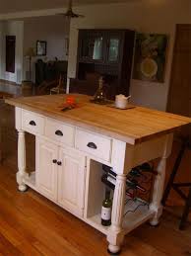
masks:
<svg viewBox="0 0 191 256"><path fill-rule="evenodd" d="M133 29L169 36L164 83L132 80L130 89L135 104L165 110L175 25L191 23L191 1L136 0L79 7L77 11L85 15L85 18L73 19L71 23L68 77L76 75L78 29Z"/></svg>

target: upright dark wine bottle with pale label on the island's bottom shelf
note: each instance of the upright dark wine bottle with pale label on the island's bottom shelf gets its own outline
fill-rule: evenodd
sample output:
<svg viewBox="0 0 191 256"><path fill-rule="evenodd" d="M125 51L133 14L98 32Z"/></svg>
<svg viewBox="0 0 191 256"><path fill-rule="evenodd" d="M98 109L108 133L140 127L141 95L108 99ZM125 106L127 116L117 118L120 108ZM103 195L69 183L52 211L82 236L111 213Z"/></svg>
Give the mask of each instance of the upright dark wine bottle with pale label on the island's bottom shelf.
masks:
<svg viewBox="0 0 191 256"><path fill-rule="evenodd" d="M110 200L110 190L106 188L105 199L102 202L101 208L101 224L110 225L111 224L111 207L112 201Z"/></svg>

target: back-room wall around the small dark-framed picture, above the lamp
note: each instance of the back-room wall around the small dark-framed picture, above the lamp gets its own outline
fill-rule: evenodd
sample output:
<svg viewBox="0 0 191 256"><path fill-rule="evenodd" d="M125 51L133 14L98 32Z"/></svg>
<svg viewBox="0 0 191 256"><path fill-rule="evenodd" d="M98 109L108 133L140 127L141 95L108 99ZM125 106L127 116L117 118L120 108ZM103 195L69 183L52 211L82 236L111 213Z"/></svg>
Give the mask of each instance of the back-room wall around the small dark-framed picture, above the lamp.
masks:
<svg viewBox="0 0 191 256"><path fill-rule="evenodd" d="M34 79L34 62L37 58L53 60L57 57L66 60L65 39L69 36L69 23L61 16L35 17L24 20L24 53L29 47L35 50L36 41L47 42L46 57L32 58L32 77ZM29 60L24 57L24 77L29 71Z"/></svg>

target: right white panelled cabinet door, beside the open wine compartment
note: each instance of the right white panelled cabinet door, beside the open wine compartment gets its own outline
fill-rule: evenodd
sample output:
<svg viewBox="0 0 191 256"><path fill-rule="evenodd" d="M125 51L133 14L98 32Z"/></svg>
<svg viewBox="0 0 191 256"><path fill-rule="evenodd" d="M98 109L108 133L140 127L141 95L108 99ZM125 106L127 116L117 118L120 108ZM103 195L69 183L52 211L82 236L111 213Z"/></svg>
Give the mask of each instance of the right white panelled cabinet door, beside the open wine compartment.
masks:
<svg viewBox="0 0 191 256"><path fill-rule="evenodd" d="M85 157L79 152L61 148L58 170L58 203L72 213L83 215L85 190Z"/></svg>

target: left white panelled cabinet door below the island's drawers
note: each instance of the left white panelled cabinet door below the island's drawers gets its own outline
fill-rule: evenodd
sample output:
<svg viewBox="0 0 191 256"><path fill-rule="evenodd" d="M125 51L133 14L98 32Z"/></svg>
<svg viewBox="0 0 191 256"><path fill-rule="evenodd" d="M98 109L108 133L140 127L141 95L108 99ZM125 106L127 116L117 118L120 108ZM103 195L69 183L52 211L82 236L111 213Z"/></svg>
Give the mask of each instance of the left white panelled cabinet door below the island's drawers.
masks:
<svg viewBox="0 0 191 256"><path fill-rule="evenodd" d="M57 200L58 147L36 138L36 187L50 200Z"/></svg>

